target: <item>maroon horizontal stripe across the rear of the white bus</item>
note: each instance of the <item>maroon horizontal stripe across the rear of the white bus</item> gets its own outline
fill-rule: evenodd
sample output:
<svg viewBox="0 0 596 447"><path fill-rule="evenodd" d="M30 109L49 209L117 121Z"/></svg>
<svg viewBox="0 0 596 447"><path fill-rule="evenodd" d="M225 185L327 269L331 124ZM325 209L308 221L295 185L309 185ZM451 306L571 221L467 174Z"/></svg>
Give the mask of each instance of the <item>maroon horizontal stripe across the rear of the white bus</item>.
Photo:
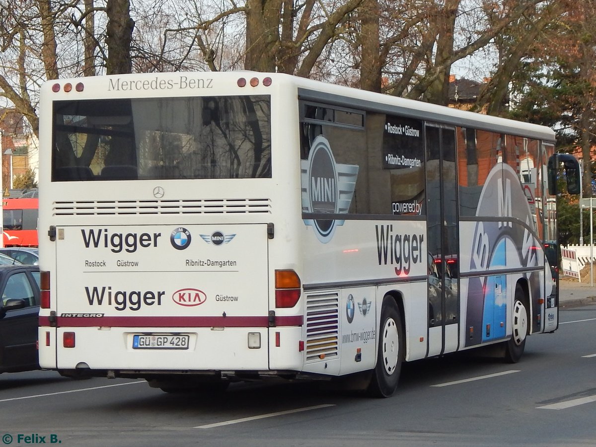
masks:
<svg viewBox="0 0 596 447"><path fill-rule="evenodd" d="M302 315L276 316L275 326L302 326ZM58 327L268 327L268 316L58 316ZM49 317L39 317L49 326Z"/></svg>

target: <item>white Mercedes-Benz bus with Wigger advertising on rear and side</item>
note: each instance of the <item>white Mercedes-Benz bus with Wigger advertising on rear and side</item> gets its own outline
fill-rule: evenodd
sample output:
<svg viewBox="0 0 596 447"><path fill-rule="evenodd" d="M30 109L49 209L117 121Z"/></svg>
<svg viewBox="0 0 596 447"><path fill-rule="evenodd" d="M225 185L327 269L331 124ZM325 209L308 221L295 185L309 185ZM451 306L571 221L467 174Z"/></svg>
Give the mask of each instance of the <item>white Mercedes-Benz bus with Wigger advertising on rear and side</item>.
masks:
<svg viewBox="0 0 596 447"><path fill-rule="evenodd" d="M390 396L403 361L491 344L516 362L558 326L538 204L561 160L570 192L579 177L548 128L281 74L152 73L47 82L40 139L42 368Z"/></svg>

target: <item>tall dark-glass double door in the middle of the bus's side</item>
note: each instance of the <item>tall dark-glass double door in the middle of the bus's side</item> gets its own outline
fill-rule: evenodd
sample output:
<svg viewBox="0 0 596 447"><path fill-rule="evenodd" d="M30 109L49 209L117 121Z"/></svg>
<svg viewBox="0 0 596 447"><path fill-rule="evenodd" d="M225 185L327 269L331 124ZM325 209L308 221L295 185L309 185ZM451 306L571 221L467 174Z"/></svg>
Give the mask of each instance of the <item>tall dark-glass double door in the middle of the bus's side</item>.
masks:
<svg viewBox="0 0 596 447"><path fill-rule="evenodd" d="M459 346L458 203L455 129L425 127L428 253L427 356Z"/></svg>

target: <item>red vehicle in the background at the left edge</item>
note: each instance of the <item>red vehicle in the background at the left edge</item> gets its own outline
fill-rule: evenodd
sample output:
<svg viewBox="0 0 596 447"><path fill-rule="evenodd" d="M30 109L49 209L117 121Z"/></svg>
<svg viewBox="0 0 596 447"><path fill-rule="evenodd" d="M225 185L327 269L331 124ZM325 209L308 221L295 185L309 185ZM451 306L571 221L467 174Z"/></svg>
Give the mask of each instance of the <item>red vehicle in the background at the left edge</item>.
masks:
<svg viewBox="0 0 596 447"><path fill-rule="evenodd" d="M5 247L38 246L38 198L2 200L2 238Z"/></svg>

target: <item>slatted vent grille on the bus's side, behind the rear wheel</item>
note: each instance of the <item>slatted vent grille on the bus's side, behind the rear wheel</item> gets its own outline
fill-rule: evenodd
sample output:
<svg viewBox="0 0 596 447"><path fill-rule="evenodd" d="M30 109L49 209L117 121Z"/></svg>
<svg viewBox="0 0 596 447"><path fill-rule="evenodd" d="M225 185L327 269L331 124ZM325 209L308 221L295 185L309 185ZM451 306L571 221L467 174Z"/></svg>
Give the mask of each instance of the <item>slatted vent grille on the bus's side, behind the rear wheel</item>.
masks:
<svg viewBox="0 0 596 447"><path fill-rule="evenodd" d="M306 297L306 362L339 356L339 296Z"/></svg>

